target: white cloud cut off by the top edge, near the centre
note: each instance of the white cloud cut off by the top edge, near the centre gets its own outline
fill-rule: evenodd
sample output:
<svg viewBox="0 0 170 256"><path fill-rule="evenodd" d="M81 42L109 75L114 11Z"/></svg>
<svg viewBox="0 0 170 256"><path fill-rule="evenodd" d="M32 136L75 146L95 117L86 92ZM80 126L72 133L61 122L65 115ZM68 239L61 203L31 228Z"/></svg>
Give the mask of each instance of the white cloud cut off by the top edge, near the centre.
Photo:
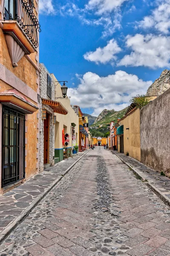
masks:
<svg viewBox="0 0 170 256"><path fill-rule="evenodd" d="M95 9L97 15L112 12L128 0L89 0L86 9Z"/></svg>

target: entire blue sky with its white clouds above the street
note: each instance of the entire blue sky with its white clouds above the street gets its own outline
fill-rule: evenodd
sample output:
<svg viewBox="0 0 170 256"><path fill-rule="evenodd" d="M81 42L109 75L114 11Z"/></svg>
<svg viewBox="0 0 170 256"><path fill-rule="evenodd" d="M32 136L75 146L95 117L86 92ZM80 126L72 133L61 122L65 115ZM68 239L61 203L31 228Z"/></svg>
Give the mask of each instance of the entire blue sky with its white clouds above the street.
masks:
<svg viewBox="0 0 170 256"><path fill-rule="evenodd" d="M170 0L40 0L40 62L71 103L121 110L170 66Z"/></svg>

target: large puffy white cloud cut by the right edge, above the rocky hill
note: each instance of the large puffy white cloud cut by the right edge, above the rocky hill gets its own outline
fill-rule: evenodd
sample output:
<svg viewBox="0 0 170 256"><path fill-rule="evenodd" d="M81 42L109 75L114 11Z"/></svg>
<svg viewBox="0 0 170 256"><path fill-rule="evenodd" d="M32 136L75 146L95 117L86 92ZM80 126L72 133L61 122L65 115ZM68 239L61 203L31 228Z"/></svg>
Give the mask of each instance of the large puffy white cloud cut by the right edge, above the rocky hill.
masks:
<svg viewBox="0 0 170 256"><path fill-rule="evenodd" d="M132 52L125 55L118 66L170 67L170 37L136 34L128 35L126 39L126 46Z"/></svg>

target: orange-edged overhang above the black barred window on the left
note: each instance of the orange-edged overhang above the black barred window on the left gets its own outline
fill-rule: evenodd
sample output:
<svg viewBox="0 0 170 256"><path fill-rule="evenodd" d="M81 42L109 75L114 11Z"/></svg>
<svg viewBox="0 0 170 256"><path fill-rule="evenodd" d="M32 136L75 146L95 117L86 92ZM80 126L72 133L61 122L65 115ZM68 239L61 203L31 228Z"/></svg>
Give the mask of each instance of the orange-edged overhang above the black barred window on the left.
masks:
<svg viewBox="0 0 170 256"><path fill-rule="evenodd" d="M36 105L16 89L0 92L0 103L25 114L32 114L38 109Z"/></svg>

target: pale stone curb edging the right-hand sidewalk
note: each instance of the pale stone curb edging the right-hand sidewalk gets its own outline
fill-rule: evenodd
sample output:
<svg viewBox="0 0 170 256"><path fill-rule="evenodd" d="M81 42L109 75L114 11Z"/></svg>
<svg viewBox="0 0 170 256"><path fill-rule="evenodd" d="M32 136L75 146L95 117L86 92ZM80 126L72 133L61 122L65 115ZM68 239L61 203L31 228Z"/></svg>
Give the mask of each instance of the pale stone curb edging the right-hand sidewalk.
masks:
<svg viewBox="0 0 170 256"><path fill-rule="evenodd" d="M114 151L111 152L112 154L115 154L123 163L125 163L133 171L135 175L137 175L142 181L144 181L144 184L146 184L158 196L158 198L160 198L164 202L164 204L170 207L170 199L166 195L164 195L159 189L157 189L156 186L152 184L152 180L147 180L142 172L136 170L133 166L124 161Z"/></svg>

